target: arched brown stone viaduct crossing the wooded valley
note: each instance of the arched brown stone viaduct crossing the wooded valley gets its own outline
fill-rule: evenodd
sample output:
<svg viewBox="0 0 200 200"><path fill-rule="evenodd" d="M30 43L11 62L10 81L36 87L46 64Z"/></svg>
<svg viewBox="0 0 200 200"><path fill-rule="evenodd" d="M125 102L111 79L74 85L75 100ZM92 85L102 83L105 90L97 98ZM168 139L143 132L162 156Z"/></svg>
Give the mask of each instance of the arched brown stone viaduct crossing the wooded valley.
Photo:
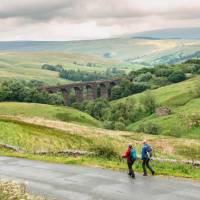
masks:
<svg viewBox="0 0 200 200"><path fill-rule="evenodd" d="M90 81L59 86L42 87L41 89L49 93L62 92L65 105L69 105L69 94L71 90L74 90L77 102L82 102L85 99L94 100L98 97L109 99L109 91L113 86L118 85L120 81L121 79ZM98 89L100 91L99 96L97 96Z"/></svg>

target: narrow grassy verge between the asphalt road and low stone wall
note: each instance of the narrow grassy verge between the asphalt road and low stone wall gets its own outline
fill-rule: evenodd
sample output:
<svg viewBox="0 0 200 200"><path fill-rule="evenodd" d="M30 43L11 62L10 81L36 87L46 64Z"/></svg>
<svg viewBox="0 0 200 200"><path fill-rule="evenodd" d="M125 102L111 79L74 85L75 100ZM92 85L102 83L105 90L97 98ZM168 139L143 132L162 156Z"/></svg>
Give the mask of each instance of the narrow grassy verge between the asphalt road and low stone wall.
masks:
<svg viewBox="0 0 200 200"><path fill-rule="evenodd" d="M94 157L94 156L78 156L78 157L61 157L61 156L47 156L47 155L34 155L34 154L21 154L13 153L8 150L0 150L1 156L11 156L17 158L25 158L31 160L39 160L51 163L59 164L75 164L89 167L99 167L111 170L117 170L126 172L127 165L126 161L117 158L105 158L105 157ZM152 161L152 167L155 169L157 175L174 176L182 178L191 178L194 180L200 180L200 169L195 168L189 164L181 163L169 163L169 162L158 162ZM142 173L141 161L137 161L134 164L134 169L137 173Z"/></svg>

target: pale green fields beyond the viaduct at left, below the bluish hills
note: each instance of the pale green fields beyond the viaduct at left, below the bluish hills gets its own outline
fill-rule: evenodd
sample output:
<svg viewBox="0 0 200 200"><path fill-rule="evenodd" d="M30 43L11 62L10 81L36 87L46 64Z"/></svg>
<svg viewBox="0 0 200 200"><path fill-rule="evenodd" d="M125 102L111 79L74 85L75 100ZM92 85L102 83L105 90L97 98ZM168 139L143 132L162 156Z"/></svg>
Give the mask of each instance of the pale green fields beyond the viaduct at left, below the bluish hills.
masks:
<svg viewBox="0 0 200 200"><path fill-rule="evenodd" d="M75 65L73 62L82 65ZM88 67L87 63L97 64ZM57 72L41 69L43 64L61 64L65 69L80 69L84 71L102 71L112 67L119 61L106 60L94 55L80 55L62 52L0 52L0 82L8 79L38 80L56 85L69 83L61 79Z"/></svg>

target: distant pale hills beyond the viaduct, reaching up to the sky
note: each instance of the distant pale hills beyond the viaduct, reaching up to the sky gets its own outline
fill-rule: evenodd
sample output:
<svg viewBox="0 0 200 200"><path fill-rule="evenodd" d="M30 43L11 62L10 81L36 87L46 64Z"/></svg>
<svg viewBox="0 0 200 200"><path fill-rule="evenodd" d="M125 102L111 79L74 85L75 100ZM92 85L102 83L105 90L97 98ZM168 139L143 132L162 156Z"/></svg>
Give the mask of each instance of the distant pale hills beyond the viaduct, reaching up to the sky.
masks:
<svg viewBox="0 0 200 200"><path fill-rule="evenodd" d="M199 29L170 29L87 41L0 42L0 81L15 78L52 85L67 82L56 72L42 70L44 63L84 71L117 67L126 72L179 63L200 56L198 33Z"/></svg>

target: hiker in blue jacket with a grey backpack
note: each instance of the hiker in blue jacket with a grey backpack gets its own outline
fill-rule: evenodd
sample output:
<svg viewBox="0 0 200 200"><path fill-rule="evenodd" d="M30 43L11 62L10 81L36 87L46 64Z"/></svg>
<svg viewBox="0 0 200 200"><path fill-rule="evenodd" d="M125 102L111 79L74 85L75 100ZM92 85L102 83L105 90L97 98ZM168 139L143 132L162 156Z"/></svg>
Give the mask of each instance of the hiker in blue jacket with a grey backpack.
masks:
<svg viewBox="0 0 200 200"><path fill-rule="evenodd" d="M146 167L151 171L151 174L154 175L155 171L152 169L150 166L150 158L151 158L151 147L147 144L147 141L145 140L143 142L143 147L142 147L142 168L143 168L143 176L147 176L147 170Z"/></svg>

